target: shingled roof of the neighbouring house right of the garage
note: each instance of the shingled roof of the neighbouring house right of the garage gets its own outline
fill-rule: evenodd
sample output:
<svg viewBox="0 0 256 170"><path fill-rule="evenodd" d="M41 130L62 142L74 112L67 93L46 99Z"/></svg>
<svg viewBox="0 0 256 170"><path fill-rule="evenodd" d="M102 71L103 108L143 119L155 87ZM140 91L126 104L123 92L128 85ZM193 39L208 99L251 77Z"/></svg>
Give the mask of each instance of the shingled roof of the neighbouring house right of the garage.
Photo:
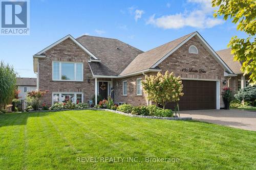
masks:
<svg viewBox="0 0 256 170"><path fill-rule="evenodd" d="M231 54L231 48L220 50L216 53L229 66L234 74L243 74L241 71L242 64L239 61L234 61L234 56Z"/></svg>

